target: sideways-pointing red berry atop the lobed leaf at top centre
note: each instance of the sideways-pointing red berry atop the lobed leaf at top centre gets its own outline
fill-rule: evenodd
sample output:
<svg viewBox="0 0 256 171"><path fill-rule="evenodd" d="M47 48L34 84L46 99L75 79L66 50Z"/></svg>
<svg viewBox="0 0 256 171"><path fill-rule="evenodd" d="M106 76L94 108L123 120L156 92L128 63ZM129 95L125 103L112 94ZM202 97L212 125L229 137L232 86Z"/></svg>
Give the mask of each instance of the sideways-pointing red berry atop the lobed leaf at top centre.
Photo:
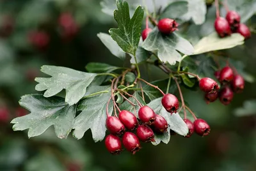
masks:
<svg viewBox="0 0 256 171"><path fill-rule="evenodd" d="M173 19L161 19L159 20L157 27L161 33L170 34L177 30L179 24Z"/></svg>

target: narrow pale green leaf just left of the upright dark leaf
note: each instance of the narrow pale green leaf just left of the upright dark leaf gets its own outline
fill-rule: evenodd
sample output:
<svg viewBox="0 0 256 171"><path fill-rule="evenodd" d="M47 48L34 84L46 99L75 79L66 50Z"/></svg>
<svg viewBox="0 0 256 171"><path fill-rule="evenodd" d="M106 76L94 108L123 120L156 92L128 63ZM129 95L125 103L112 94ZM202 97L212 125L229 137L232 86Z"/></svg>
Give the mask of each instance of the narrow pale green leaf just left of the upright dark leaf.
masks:
<svg viewBox="0 0 256 171"><path fill-rule="evenodd" d="M112 11L113 12L113 11ZM118 57L121 60L125 59L125 52L118 46L116 41L114 41L109 34L99 33L97 34L98 38L102 41L102 43L109 49L111 54Z"/></svg>

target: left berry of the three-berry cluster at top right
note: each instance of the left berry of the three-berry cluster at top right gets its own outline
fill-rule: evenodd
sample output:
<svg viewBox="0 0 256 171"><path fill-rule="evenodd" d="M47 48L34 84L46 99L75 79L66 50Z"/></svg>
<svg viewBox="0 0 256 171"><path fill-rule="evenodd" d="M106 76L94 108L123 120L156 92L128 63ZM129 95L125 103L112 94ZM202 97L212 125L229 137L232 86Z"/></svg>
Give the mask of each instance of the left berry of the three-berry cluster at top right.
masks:
<svg viewBox="0 0 256 171"><path fill-rule="evenodd" d="M230 26L226 19L223 17L218 17L214 22L214 27L216 32L221 38L229 36L231 34Z"/></svg>

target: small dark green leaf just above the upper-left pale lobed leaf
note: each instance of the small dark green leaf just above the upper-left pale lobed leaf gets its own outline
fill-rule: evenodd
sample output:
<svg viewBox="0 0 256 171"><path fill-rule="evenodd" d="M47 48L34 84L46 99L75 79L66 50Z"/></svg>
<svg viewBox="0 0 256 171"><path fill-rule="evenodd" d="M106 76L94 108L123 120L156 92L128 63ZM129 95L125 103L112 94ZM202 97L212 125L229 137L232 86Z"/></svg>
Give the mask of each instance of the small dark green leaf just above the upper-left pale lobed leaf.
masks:
<svg viewBox="0 0 256 171"><path fill-rule="evenodd" d="M105 63L88 63L85 68L90 73L111 73L112 71L120 69L120 67Z"/></svg>

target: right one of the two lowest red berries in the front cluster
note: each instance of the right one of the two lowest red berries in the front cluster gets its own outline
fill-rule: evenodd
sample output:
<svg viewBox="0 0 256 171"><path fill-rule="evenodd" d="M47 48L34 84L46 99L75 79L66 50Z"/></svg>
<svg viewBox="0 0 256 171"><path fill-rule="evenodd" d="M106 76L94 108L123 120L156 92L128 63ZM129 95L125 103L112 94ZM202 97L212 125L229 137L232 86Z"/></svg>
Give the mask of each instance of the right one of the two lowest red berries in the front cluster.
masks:
<svg viewBox="0 0 256 171"><path fill-rule="evenodd" d="M132 152L132 154L135 154L137 151L141 149L139 138L134 133L131 132L124 133L123 144L125 149L127 149L127 151Z"/></svg>

